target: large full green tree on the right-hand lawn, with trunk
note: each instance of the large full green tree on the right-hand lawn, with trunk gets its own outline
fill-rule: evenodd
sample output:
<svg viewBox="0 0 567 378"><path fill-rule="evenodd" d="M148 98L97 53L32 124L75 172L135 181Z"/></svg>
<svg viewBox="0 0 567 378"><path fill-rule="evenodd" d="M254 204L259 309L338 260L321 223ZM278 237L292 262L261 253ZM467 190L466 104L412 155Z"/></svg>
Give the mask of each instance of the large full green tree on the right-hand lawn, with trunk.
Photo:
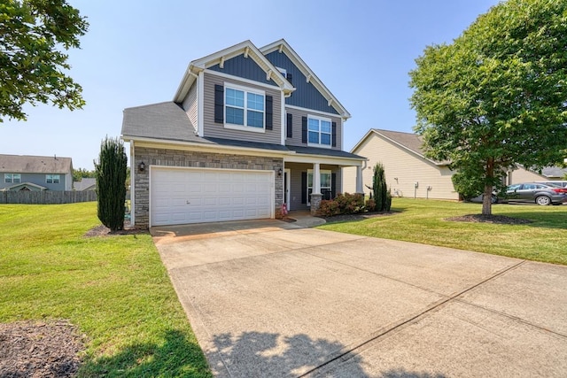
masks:
<svg viewBox="0 0 567 378"><path fill-rule="evenodd" d="M426 47L416 65L416 133L429 158L484 185L483 214L516 164L539 170L567 157L565 0L495 5L453 43Z"/></svg>

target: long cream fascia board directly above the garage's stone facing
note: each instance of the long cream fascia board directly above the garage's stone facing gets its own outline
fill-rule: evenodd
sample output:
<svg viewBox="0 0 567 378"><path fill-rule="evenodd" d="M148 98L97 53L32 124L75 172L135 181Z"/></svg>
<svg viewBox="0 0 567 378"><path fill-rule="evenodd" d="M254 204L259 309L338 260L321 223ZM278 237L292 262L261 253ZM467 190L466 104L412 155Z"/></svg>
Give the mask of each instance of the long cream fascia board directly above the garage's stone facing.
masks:
<svg viewBox="0 0 567 378"><path fill-rule="evenodd" d="M166 141L154 138L144 138L125 135L125 138L136 143L136 147L161 148L165 150L191 150L197 152L226 152L235 155L265 156L269 158L283 158L289 151L264 150L250 147L227 146L215 143L193 143Z"/></svg>

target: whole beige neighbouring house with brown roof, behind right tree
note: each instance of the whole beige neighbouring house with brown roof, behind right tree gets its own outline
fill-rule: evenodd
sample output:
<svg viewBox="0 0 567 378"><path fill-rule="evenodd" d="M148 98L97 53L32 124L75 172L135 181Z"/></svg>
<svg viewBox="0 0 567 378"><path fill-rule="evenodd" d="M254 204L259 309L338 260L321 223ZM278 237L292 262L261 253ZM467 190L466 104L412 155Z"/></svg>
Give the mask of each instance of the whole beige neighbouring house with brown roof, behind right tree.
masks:
<svg viewBox="0 0 567 378"><path fill-rule="evenodd" d="M384 165L386 184L396 197L459 199L454 191L451 177L454 172L448 162L425 158L422 137L399 131L372 128L353 147L354 154L368 158L367 167L362 171L362 181L367 193L371 190L374 166ZM356 173L346 168L343 186L346 192L355 190Z"/></svg>

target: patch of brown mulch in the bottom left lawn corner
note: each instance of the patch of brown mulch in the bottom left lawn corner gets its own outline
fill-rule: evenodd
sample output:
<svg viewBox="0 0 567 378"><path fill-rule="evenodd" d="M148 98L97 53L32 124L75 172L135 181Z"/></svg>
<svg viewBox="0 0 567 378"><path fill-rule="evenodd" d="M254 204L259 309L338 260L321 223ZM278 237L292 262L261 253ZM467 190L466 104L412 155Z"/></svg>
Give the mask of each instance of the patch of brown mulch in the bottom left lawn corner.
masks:
<svg viewBox="0 0 567 378"><path fill-rule="evenodd" d="M66 320L0 323L0 377L73 377L85 341Z"/></svg>

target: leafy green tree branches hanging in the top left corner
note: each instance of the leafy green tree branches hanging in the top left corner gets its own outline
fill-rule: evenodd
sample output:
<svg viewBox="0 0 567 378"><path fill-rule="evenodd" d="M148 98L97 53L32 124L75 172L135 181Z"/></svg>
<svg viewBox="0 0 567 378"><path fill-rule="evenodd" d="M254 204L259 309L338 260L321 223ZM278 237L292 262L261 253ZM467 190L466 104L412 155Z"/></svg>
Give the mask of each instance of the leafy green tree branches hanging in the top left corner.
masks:
<svg viewBox="0 0 567 378"><path fill-rule="evenodd" d="M66 74L62 50L79 48L88 26L65 0L2 0L0 122L26 120L26 103L82 108L82 88Z"/></svg>

